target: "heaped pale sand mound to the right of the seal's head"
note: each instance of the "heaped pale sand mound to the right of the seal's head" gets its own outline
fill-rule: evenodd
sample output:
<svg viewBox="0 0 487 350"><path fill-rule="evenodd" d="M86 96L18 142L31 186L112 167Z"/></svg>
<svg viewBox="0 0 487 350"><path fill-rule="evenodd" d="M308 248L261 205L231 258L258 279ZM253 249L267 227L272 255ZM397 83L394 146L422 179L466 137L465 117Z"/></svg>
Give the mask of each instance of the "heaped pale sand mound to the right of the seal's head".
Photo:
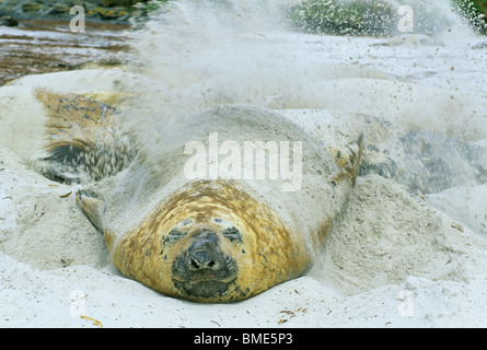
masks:
<svg viewBox="0 0 487 350"><path fill-rule="evenodd" d="M310 276L356 294L408 276L468 281L486 242L379 176L360 178ZM475 272L476 273L476 272Z"/></svg>

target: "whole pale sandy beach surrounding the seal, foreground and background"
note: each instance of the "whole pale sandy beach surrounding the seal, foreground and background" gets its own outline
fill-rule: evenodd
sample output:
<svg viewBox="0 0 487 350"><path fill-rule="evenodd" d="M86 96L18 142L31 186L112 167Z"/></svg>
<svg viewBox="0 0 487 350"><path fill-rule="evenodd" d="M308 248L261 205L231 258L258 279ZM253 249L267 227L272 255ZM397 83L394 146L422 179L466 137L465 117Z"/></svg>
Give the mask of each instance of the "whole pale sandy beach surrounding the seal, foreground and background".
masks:
<svg viewBox="0 0 487 350"><path fill-rule="evenodd" d="M132 38L132 66L118 60L117 67L74 67L86 50L102 60L125 52L117 46L118 34L98 33L95 42L83 38L88 48L62 42L80 51L55 69L61 72L27 75L0 88L0 327L487 327L485 159L437 147L434 163L416 150L394 149L414 131L439 136L438 144L456 144L464 137L468 150L485 154L486 49L474 49L485 37L452 31L447 39L378 39L255 28L219 37L205 32L212 24L196 34L188 30L183 40L179 28L162 31L165 25L154 21ZM12 52L9 40L24 40L19 31L0 28L0 44ZM28 35L51 43L61 34L50 33L49 39L33 30ZM169 48L156 45L163 39ZM65 44L48 47L62 59ZM185 55L179 55L182 47ZM141 61L144 69L137 65ZM68 66L73 67L68 71ZM15 70L4 80L44 72ZM36 89L82 94L126 92L127 86L140 94L140 105L132 108L153 103L135 120L148 129L153 112L167 100L184 108L220 98L285 116L382 118L389 136L373 136L374 141L386 144L381 148L387 149L396 173L359 176L303 276L230 304L169 298L121 276L112 264L103 234L76 203L83 185L51 182L30 161L42 127L26 126L44 113ZM311 122L305 127L318 132ZM370 147L368 155L374 151ZM444 171L428 167L441 162L448 165ZM441 187L411 190L413 185L421 190L438 185L430 180L433 175Z"/></svg>

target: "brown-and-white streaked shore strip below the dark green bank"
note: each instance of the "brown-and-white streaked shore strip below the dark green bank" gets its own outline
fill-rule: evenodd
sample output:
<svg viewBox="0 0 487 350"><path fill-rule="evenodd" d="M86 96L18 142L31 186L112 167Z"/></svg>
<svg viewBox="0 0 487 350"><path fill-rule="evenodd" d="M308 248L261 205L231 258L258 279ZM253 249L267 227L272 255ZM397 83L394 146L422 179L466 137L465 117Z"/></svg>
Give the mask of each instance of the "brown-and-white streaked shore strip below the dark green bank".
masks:
<svg viewBox="0 0 487 350"><path fill-rule="evenodd" d="M118 65L127 46L120 33L126 25L90 24L85 33L69 32L62 21L23 20L12 32L0 27L0 86L28 74L77 69L97 61Z"/></svg>

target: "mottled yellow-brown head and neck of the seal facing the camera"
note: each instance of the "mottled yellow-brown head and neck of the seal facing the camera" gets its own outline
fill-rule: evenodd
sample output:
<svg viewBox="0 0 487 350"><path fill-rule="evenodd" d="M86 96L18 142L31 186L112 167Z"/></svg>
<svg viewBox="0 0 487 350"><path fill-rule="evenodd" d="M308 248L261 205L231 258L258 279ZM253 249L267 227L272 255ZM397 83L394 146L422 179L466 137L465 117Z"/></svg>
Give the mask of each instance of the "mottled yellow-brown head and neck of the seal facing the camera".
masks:
<svg viewBox="0 0 487 350"><path fill-rule="evenodd" d="M125 276L197 302L250 298L299 276L312 259L302 235L235 182L194 182L116 245L114 233L105 236Z"/></svg>

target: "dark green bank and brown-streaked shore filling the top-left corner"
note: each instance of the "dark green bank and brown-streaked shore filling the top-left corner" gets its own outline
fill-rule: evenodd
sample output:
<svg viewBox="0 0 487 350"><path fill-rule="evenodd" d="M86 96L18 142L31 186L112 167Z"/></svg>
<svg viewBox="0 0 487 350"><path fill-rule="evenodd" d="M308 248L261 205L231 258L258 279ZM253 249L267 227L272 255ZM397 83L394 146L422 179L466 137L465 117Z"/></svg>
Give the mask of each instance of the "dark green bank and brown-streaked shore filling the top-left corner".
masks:
<svg viewBox="0 0 487 350"><path fill-rule="evenodd" d="M27 74L65 71L96 61L119 65L127 45L121 35L129 19L143 18L135 7L107 0L0 0L0 86ZM85 32L70 31L72 5L85 12Z"/></svg>

